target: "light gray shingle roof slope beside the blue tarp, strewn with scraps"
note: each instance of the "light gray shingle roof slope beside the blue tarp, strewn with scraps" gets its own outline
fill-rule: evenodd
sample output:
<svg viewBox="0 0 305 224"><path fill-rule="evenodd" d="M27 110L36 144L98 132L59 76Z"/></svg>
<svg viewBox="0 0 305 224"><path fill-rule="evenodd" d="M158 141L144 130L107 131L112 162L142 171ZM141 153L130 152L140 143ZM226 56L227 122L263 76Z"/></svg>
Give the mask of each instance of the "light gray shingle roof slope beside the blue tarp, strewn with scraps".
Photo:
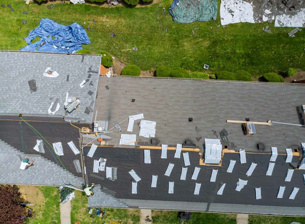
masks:
<svg viewBox="0 0 305 224"><path fill-rule="evenodd" d="M100 60L99 55L85 55L81 62L82 55L0 51L1 101L11 107L2 105L0 114L16 115L18 112L32 116L65 116L66 121L90 123L92 113L84 112L95 100L99 73L88 71L90 66L92 70L99 71ZM47 67L56 70L59 76L43 76ZM89 81L81 88L79 84L88 79L88 75L91 75ZM37 91L31 93L28 81L32 79L36 81ZM93 85L89 85L91 81ZM89 91L94 94L90 96ZM67 92L70 97L80 98L81 101L79 108L71 114L65 114L63 109ZM55 115L49 115L48 108L56 98L59 98L60 108Z"/></svg>

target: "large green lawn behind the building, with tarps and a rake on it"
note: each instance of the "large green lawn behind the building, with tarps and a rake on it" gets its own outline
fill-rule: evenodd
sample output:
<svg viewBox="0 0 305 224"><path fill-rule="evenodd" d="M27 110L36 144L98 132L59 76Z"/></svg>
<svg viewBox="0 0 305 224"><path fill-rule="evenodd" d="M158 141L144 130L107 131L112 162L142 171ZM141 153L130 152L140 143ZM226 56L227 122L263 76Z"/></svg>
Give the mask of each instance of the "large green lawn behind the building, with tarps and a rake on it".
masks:
<svg viewBox="0 0 305 224"><path fill-rule="evenodd" d="M175 23L167 15L167 10L163 15L163 7L168 9L171 0L135 8L56 3L54 8L47 9L45 4L30 2L26 5L23 0L0 0L2 3L11 3L15 12L7 7L0 8L0 49L18 50L25 46L23 38L37 27L40 18L50 18L60 24L77 22L85 28L89 26L87 33L91 44L84 45L85 49L91 52L106 50L124 63L136 64L142 70L166 65L203 71L203 64L209 64L209 73L245 70L254 77L285 71L288 67L305 70L305 32L289 38L287 33L293 28L273 27L272 24L269 34L262 31L267 22L236 23L217 28L219 12L217 21ZM22 14L25 10L27 15ZM22 24L21 20L27 20L27 23ZM161 30L161 25L168 32ZM192 34L197 27L199 29ZM117 37L111 37L111 32ZM135 45L138 52L121 51Z"/></svg>

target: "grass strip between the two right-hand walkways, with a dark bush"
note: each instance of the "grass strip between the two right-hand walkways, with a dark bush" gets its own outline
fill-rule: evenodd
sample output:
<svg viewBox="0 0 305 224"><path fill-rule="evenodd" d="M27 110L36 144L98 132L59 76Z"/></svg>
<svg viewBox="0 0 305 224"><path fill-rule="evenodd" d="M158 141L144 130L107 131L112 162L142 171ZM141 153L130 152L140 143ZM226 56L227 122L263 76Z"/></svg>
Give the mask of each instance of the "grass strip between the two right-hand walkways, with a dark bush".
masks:
<svg viewBox="0 0 305 224"><path fill-rule="evenodd" d="M180 222L177 211L152 211L154 224L178 224ZM236 224L236 215L192 212L192 217L185 224Z"/></svg>

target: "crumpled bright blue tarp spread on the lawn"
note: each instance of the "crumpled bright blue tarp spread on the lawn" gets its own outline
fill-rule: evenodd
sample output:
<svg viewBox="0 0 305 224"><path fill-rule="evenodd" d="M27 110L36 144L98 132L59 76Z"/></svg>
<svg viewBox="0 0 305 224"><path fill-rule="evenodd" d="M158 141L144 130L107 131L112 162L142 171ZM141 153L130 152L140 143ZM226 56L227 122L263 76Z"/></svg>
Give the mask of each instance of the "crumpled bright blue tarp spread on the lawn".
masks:
<svg viewBox="0 0 305 224"><path fill-rule="evenodd" d="M36 37L40 37L40 41L31 44ZM28 45L20 51L75 53L83 49L82 44L90 44L84 27L78 23L65 26L50 19L41 19L39 26L31 30L24 40Z"/></svg>

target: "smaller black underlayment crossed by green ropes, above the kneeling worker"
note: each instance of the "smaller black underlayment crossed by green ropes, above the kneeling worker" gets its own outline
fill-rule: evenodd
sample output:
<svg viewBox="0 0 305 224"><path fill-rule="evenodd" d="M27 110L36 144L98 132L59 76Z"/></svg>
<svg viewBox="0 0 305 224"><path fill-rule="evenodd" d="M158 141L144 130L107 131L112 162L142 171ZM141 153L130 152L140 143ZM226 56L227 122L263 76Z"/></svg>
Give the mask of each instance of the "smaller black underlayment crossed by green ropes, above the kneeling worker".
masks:
<svg viewBox="0 0 305 224"><path fill-rule="evenodd" d="M50 143L61 142L63 146L63 156L58 156L60 161L58 160L55 152L48 145L51 152L48 150L47 146L44 144L45 153L39 153L33 149L36 145L36 140L39 139L38 136L31 130L31 128L24 122L21 121L22 125L22 139L23 146L21 141L21 126L19 124L20 121L3 121L3 119L12 119L12 120L20 120L20 117L17 116L0 116L0 139L2 141L10 144L20 152L23 152L23 146L25 154L35 154L41 155L48 160L51 160L55 164L59 164L59 166L66 167L66 169L72 174L82 177L82 173L77 173L75 166L73 164L74 159L81 160L80 154L75 155L73 151L70 149L67 144L70 141L79 147L79 130L68 122L64 122L62 118L48 118L48 117L24 117L24 120L34 120L34 121L57 121L57 122L34 122L29 121L28 123L32 125L38 132L41 133L42 136ZM58 123L58 121L63 123ZM74 124L77 125L77 124ZM81 125L78 125L81 126ZM9 162L9 161L6 161Z"/></svg>

